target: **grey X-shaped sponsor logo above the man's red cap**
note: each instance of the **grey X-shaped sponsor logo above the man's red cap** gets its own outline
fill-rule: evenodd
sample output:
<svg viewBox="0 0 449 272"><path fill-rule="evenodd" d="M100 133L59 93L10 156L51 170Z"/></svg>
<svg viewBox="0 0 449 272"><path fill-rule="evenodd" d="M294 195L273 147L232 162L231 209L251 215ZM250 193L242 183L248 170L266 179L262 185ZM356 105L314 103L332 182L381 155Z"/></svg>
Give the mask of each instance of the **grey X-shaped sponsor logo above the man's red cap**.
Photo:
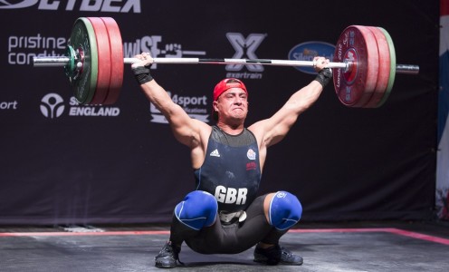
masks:
<svg viewBox="0 0 449 272"><path fill-rule="evenodd" d="M255 51L262 44L266 34L249 34L244 38L244 35L240 33L227 33L226 37L234 47L234 59L257 59ZM249 73L241 72L244 67L246 67ZM226 77L239 79L262 79L264 70L262 64L227 64L225 69L228 71Z"/></svg>

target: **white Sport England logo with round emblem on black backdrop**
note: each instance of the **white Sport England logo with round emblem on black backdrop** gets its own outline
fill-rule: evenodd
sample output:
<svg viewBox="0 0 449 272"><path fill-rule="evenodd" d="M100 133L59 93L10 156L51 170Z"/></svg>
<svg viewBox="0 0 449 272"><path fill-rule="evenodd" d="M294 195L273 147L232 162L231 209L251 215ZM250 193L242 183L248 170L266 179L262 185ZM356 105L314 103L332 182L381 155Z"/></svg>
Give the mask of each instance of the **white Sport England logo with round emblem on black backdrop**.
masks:
<svg viewBox="0 0 449 272"><path fill-rule="evenodd" d="M43 116L55 119L62 116L64 110L68 108L69 116L85 116L85 117L115 117L119 116L120 109L118 107L106 107L101 105L81 105L76 98L72 96L69 105L64 103L61 95L58 93L48 93L41 100L40 109Z"/></svg>

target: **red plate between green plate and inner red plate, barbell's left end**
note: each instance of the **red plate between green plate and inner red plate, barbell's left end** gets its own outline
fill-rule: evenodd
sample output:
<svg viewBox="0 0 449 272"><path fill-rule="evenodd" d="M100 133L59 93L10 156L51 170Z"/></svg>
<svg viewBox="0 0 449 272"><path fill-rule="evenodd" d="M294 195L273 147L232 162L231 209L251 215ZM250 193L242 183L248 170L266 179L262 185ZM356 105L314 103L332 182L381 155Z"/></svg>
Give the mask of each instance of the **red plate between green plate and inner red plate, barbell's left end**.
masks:
<svg viewBox="0 0 449 272"><path fill-rule="evenodd" d="M97 88L91 104L102 104L110 88L110 39L106 26L100 18L88 17L95 31L98 51Z"/></svg>

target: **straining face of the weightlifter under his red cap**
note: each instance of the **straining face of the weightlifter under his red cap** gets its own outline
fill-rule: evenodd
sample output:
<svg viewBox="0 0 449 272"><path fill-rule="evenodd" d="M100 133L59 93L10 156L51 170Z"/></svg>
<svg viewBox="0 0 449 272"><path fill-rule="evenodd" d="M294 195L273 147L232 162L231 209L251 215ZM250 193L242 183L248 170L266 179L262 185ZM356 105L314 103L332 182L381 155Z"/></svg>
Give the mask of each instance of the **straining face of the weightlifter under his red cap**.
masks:
<svg viewBox="0 0 449 272"><path fill-rule="evenodd" d="M241 88L231 88L218 97L214 107L221 120L244 120L248 113L248 95Z"/></svg>

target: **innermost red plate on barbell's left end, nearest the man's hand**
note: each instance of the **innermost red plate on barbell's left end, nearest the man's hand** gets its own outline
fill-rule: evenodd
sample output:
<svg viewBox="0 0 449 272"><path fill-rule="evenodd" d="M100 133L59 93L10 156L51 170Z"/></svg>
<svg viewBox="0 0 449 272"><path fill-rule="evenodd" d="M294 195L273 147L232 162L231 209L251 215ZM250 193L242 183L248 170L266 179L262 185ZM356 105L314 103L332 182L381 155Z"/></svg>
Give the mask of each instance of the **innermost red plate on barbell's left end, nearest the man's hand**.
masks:
<svg viewBox="0 0 449 272"><path fill-rule="evenodd" d="M100 17L109 35L110 41L110 90L104 104L113 104L119 99L123 83L123 43L119 25L110 17Z"/></svg>

